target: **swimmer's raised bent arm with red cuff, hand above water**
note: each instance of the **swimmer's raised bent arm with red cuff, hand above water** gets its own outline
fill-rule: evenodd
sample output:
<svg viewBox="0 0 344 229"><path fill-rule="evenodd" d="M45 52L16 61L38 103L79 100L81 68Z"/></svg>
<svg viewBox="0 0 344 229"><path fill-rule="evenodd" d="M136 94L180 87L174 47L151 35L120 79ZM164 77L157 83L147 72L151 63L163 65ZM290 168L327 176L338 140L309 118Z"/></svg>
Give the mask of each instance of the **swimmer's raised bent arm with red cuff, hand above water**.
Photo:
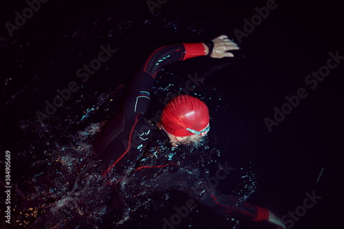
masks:
<svg viewBox="0 0 344 229"><path fill-rule="evenodd" d="M239 49L225 35L219 36L211 42L213 45L208 43L182 43L153 50L145 58L128 85L125 97L125 116L133 117L146 111L155 77L164 65L184 61L195 56L207 56L209 52L211 52L209 56L212 58L233 57L233 54L228 51Z"/></svg>

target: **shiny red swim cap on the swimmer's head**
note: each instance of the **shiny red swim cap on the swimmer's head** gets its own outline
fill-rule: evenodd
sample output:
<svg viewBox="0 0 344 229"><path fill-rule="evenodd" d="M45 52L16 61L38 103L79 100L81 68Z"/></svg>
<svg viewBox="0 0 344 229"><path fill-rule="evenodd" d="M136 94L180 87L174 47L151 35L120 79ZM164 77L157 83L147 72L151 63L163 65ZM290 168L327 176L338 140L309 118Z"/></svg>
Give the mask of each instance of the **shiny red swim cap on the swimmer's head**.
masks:
<svg viewBox="0 0 344 229"><path fill-rule="evenodd" d="M193 96L176 96L164 107L161 121L164 129L177 137L204 135L209 129L208 107Z"/></svg>

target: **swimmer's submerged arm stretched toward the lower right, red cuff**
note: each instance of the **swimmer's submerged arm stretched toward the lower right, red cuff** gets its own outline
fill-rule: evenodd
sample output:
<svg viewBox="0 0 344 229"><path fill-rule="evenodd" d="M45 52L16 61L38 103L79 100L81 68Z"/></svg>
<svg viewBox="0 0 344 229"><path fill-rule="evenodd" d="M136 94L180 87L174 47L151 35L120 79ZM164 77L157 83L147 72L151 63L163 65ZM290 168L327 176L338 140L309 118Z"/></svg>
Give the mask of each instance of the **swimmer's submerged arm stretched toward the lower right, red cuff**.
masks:
<svg viewBox="0 0 344 229"><path fill-rule="evenodd" d="M136 170L135 176L140 184L147 186L135 186L138 192L144 190L147 193L170 190L171 188L187 193L189 197L200 204L211 208L224 218L234 217L246 221L268 221L278 228L286 229L284 223L270 210L261 208L247 201L239 201L234 195L225 195L216 188L204 186L205 177L197 175L193 167L175 168L176 164L163 164L158 166L142 166ZM178 167L178 166L177 166Z"/></svg>

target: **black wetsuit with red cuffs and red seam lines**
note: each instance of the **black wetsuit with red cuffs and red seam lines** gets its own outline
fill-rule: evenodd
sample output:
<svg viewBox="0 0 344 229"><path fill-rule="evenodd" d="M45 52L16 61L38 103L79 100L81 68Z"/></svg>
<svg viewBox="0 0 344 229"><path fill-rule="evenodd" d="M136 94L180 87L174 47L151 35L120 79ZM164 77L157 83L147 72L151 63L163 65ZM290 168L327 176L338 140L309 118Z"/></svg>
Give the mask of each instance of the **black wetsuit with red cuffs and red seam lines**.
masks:
<svg viewBox="0 0 344 229"><path fill-rule="evenodd" d="M204 190L202 184L208 179L208 171L200 165L206 163L204 155L178 153L164 132L144 117L159 69L168 63L202 55L202 43L169 45L149 54L130 81L122 108L98 136L94 144L96 160L107 166L105 174L130 170L127 173L131 174L133 185L128 185L127 191L133 196L175 189L215 208L221 215L265 220L268 211L264 208L239 202L237 197L224 195L214 188ZM226 168L222 175L225 173Z"/></svg>

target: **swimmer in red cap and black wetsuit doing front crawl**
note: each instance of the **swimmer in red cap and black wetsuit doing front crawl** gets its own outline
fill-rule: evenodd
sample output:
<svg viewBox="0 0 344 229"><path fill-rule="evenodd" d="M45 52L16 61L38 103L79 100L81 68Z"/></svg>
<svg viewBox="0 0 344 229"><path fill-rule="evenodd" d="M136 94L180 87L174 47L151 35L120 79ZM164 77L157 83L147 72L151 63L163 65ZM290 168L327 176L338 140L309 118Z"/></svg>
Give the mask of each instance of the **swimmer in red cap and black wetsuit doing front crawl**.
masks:
<svg viewBox="0 0 344 229"><path fill-rule="evenodd" d="M204 173L186 174L197 165L187 159L189 155L181 157L171 152L183 145L202 142L207 135L211 127L208 107L204 102L189 95L176 96L164 107L158 124L152 124L144 116L153 83L163 66L196 56L230 58L234 56L233 50L239 50L239 47L225 35L204 43L181 43L153 50L133 74L116 116L105 125L94 142L94 159L105 166L105 176L114 170L116 173L123 172L134 164L133 173L137 177L145 177L145 181L138 180L133 186L133 189L138 189L137 192L142 191L140 185L143 184L143 188L151 193L175 188L205 206L217 209L224 217L229 214L238 219L268 221L286 228L270 210L247 202L238 203L235 197L224 195L215 188L210 190L211 195L205 197L200 195L202 191L195 191L195 186L201 183L197 183L202 179L200 174ZM165 144L169 147L162 147ZM156 150L157 147L162 150Z"/></svg>

